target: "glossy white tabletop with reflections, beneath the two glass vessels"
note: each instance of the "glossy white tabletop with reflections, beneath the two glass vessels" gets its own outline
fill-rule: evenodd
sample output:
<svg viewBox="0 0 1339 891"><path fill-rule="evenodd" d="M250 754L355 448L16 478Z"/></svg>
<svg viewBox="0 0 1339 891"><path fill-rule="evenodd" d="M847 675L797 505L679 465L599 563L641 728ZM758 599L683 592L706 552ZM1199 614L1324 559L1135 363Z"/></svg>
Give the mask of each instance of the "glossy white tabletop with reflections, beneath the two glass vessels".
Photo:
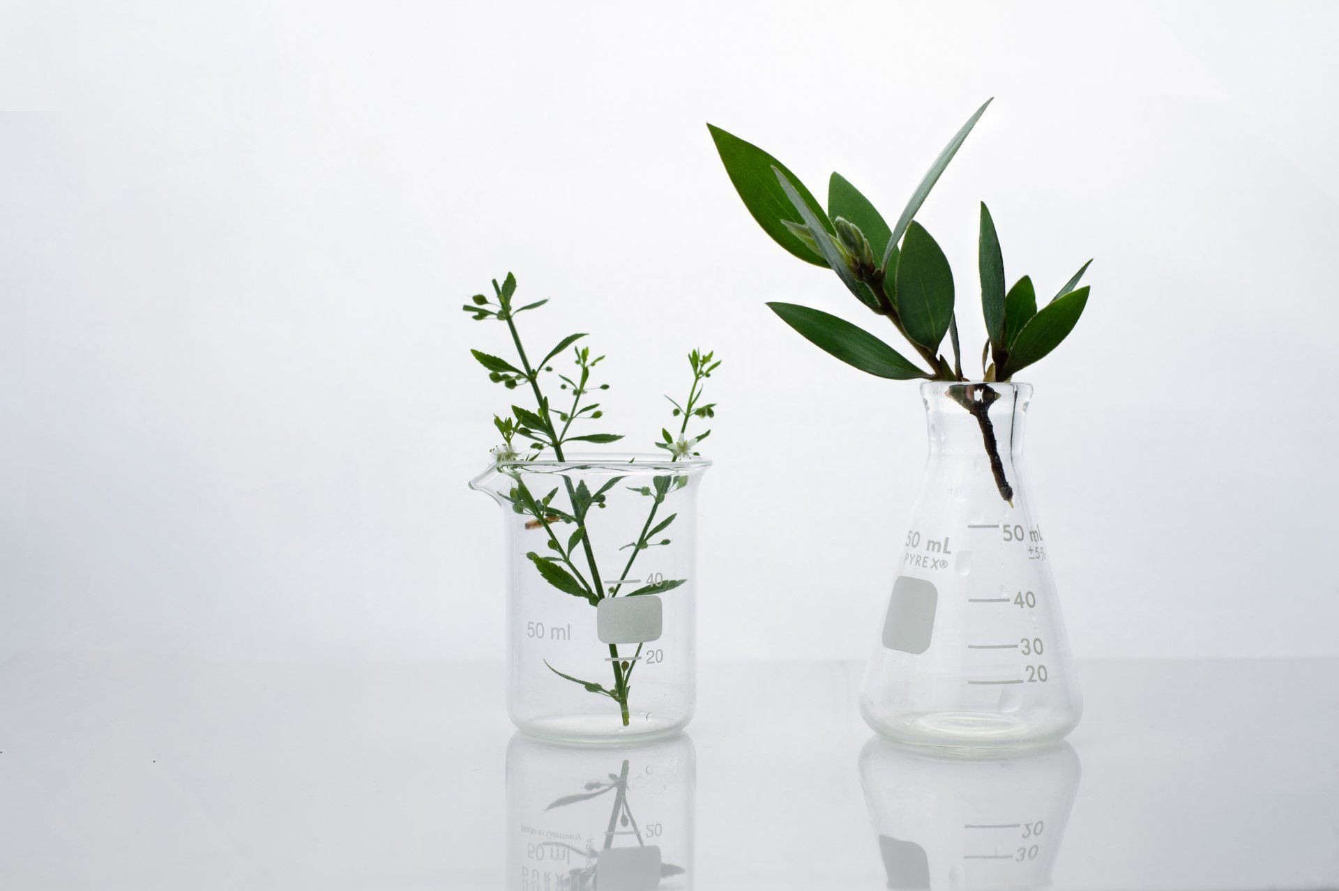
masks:
<svg viewBox="0 0 1339 891"><path fill-rule="evenodd" d="M1069 741L988 761L874 737L860 669L707 664L686 734L566 749L493 665L19 656L0 886L1339 884L1339 662L1081 662Z"/></svg>

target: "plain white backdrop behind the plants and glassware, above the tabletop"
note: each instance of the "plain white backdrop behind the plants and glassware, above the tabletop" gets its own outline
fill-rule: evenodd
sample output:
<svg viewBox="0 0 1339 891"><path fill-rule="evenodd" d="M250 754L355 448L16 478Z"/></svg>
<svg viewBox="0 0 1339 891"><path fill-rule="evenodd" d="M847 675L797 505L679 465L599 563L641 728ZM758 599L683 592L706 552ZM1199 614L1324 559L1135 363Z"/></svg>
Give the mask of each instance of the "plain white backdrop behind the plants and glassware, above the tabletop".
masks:
<svg viewBox="0 0 1339 891"><path fill-rule="evenodd" d="M1093 297L1030 369L1028 466L1086 657L1339 654L1339 7L5 4L0 658L497 658L507 400L458 306L609 355L643 448L724 359L704 658L864 658L924 459L915 384L763 306L872 325L731 189L704 122L956 270ZM884 332L892 334L892 332ZM964 349L971 353L972 349Z"/></svg>

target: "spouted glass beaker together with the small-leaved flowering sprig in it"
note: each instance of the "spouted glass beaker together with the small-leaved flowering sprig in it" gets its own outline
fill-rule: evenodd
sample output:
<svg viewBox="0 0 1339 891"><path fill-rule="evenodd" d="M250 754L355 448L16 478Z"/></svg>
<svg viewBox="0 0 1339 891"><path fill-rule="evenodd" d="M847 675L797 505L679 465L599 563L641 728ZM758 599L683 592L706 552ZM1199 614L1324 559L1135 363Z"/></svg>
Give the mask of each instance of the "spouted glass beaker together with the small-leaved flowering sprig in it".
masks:
<svg viewBox="0 0 1339 891"><path fill-rule="evenodd" d="M715 417L704 391L720 361L688 355L688 392L682 403L667 397L675 431L660 431L660 452L573 455L623 439L584 432L604 417L595 399L609 388L596 383L605 357L578 345L577 333L532 363L516 317L548 301L514 306L510 273L493 289L465 310L503 322L514 359L471 353L490 380L530 403L494 416L502 443L471 483L517 520L506 524L511 717L557 738L683 726L694 700L695 483L708 466L698 446L711 432L702 423ZM564 353L572 365L556 371Z"/></svg>

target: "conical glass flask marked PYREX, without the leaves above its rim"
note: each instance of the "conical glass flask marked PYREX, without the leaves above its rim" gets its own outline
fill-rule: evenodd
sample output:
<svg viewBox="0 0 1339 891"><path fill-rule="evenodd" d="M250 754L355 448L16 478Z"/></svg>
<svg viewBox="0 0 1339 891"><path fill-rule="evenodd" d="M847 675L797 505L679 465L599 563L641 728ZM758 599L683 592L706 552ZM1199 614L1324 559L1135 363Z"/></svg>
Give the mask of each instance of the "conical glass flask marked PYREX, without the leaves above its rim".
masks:
<svg viewBox="0 0 1339 891"><path fill-rule="evenodd" d="M865 721L905 742L1059 740L1082 712L1023 470L1030 384L927 383L929 459L865 669Z"/></svg>

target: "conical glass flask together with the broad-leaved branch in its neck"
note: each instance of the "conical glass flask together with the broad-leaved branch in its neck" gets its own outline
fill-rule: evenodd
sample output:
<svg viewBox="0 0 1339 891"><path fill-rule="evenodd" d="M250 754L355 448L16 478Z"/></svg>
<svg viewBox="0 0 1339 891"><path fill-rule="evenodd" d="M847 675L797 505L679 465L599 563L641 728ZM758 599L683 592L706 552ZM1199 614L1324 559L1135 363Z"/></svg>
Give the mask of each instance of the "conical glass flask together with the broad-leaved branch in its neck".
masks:
<svg viewBox="0 0 1339 891"><path fill-rule="evenodd" d="M889 226L833 173L826 209L779 161L708 124L726 173L759 226L789 253L832 269L857 302L886 320L908 359L838 316L767 306L814 345L864 372L923 380L929 462L901 566L861 693L866 721L935 745L1020 745L1059 738L1081 700L1022 458L1028 384L1014 376L1074 329L1089 298L1079 270L1044 305L1028 276L1006 288L991 211L979 207L981 373L964 373L949 262L916 214L986 112L943 148ZM943 344L948 341L944 355ZM972 353L975 356L975 351ZM971 359L971 357L965 357Z"/></svg>

